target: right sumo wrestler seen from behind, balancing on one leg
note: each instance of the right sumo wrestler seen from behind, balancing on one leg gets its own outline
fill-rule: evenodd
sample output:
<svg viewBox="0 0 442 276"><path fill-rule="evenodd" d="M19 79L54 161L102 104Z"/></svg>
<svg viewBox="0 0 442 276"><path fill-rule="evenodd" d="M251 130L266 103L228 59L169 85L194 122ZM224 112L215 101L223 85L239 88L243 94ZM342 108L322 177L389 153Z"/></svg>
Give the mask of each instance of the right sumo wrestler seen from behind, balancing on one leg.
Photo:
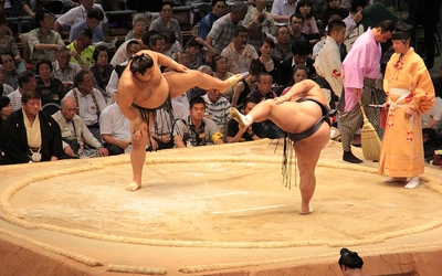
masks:
<svg viewBox="0 0 442 276"><path fill-rule="evenodd" d="M230 112L241 127L270 119L288 132L301 176L299 214L313 212L309 203L316 188L315 168L330 137L328 110L328 103L319 86L305 79L292 86L284 96L261 102L245 116L234 108Z"/></svg>

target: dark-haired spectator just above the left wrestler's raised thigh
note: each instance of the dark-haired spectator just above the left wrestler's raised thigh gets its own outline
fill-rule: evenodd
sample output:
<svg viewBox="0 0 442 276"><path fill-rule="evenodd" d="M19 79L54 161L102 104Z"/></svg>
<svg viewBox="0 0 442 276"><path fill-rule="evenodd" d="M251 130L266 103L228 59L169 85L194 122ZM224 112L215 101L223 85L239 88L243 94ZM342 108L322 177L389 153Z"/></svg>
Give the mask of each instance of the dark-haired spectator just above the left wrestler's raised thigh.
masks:
<svg viewBox="0 0 442 276"><path fill-rule="evenodd" d="M199 36L192 36L186 43L186 52L189 56L189 68L198 70L204 64L206 55L215 55L214 49Z"/></svg>

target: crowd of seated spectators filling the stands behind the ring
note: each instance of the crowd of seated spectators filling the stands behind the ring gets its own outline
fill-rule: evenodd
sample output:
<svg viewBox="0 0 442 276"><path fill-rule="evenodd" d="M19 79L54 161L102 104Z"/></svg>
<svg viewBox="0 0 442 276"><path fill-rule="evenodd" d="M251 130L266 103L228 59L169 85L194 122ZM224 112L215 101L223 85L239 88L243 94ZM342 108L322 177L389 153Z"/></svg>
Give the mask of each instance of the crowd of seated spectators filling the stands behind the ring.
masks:
<svg viewBox="0 0 442 276"><path fill-rule="evenodd" d="M371 4L369 0L213 0L211 11L199 19L193 35L185 36L173 18L173 8L196 1L146 2L149 7L137 7L129 0L66 0L62 4L10 0L0 4L2 163L129 152L129 121L118 108L116 94L120 74L140 50L159 52L189 70L220 79L244 75L227 92L194 87L175 98L170 107L172 117L158 110L146 150L159 150L282 138L283 131L272 121L241 128L230 118L230 108L246 114L261 100L284 95L287 87L306 78L317 82L330 107L338 108L340 91L330 81L320 83L326 78L320 67L324 62L317 61L329 33L327 25L345 23L345 35L343 31L341 41L336 41L340 61L350 49L344 40L348 40L356 25L367 30L377 21L389 19L402 30L408 29L406 22L378 1ZM105 11L128 8L158 12L158 17L141 12L116 15L113 22L107 20ZM376 17L371 17L373 13ZM20 26L8 20L22 15L30 19ZM115 24L131 30L120 45L103 43L105 28ZM440 93L439 78L433 83ZM438 98L434 115L424 124L431 129L427 132L430 140L442 131L441 102ZM201 110L196 109L202 103L201 117ZM196 129L193 126L202 120L203 126ZM214 139L214 132L221 132L222 139Z"/></svg>

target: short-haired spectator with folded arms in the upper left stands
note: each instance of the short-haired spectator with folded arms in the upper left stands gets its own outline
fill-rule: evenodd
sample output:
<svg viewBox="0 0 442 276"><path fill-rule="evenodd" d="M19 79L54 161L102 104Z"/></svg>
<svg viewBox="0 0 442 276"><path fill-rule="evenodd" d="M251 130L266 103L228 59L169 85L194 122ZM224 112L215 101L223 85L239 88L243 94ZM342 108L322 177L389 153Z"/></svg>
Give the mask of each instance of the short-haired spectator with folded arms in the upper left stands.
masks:
<svg viewBox="0 0 442 276"><path fill-rule="evenodd" d="M48 59L54 62L56 50L64 46L60 33L52 30L54 17L49 11L40 10L35 13L35 20L39 28L32 30L28 36L30 56L32 60Z"/></svg>

